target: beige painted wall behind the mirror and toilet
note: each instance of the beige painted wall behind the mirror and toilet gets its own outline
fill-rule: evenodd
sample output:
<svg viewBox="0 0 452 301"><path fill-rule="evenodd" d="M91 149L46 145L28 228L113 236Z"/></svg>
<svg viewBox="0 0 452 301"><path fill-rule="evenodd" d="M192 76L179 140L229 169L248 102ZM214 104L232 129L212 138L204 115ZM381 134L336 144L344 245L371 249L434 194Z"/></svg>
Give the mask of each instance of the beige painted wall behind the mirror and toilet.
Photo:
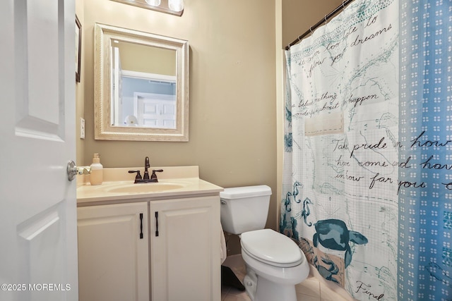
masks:
<svg viewBox="0 0 452 301"><path fill-rule="evenodd" d="M83 25L77 126L83 117L86 128L85 140L77 140L78 165L89 165L94 152L101 154L105 167L142 166L150 156L151 166L197 165L201 178L225 188L266 184L273 190L267 226L276 229L283 147L282 49L340 3L186 0L184 14L177 17L115 1L76 0ZM94 140L94 23L189 40L189 142ZM237 239L228 246L232 253L239 250Z"/></svg>

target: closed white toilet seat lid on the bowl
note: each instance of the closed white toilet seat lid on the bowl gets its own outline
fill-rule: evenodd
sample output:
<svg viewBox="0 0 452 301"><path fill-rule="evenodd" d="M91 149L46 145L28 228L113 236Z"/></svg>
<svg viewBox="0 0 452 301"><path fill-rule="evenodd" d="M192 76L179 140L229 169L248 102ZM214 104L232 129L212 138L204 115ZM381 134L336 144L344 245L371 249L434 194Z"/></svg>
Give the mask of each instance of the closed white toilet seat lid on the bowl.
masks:
<svg viewBox="0 0 452 301"><path fill-rule="evenodd" d="M271 229L242 233L240 243L250 257L272 266L297 266L304 258L297 244Z"/></svg>

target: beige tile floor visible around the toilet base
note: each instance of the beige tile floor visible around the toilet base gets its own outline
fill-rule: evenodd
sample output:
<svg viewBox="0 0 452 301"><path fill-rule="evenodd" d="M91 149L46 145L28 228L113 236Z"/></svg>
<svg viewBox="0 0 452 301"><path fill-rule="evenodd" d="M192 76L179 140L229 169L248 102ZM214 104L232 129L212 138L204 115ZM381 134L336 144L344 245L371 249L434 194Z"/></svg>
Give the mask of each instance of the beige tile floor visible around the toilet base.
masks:
<svg viewBox="0 0 452 301"><path fill-rule="evenodd" d="M223 265L229 266L240 281L243 281L246 269L242 255L238 254L227 257ZM323 285L323 283L317 280L317 278L314 278L314 276L309 276L305 281L297 285L296 289L298 301L346 301L346 299L339 294L334 293L333 290L330 290L326 285ZM221 288L221 300L251 301L248 295L246 295L246 292L225 285L222 285Z"/></svg>

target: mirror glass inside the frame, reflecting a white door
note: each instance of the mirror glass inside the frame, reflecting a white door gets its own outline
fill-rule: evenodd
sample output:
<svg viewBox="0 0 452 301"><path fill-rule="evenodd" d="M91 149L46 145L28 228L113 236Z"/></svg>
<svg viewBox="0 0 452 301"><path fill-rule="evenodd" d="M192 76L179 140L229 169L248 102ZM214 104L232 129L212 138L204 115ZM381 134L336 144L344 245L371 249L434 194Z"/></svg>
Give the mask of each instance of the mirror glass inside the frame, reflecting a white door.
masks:
<svg viewBox="0 0 452 301"><path fill-rule="evenodd" d="M112 43L112 125L175 129L176 51Z"/></svg>

